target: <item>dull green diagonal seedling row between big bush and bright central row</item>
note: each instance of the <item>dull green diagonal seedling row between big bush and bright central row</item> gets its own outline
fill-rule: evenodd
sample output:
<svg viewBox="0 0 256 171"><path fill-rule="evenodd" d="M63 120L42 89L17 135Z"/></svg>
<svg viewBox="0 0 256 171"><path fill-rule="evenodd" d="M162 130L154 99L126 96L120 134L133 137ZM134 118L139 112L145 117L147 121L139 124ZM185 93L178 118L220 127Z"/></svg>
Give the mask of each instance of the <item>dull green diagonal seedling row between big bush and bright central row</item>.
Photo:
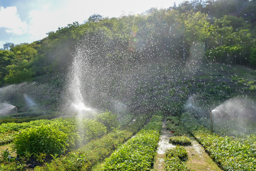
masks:
<svg viewBox="0 0 256 171"><path fill-rule="evenodd" d="M45 167L37 166L35 171L90 171L93 165L105 159L118 145L125 142L141 129L147 120L147 115L139 115L134 120L134 122L128 125L126 130L112 131L102 136L102 138L92 140L85 146L69 152L68 155L56 156L51 163L46 163Z"/></svg>

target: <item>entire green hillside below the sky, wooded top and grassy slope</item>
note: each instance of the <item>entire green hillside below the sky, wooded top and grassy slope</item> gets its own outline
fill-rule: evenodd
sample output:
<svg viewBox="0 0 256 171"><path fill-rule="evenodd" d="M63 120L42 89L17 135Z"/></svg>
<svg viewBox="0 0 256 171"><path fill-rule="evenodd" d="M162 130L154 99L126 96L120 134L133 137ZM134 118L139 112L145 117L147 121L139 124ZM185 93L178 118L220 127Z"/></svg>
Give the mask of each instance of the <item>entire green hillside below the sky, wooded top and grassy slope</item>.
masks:
<svg viewBox="0 0 256 171"><path fill-rule="evenodd" d="M85 61L76 71L82 73L83 97L102 110L122 101L132 111L178 114L193 94L204 110L241 92L253 98L255 70L247 66L256 66L255 6L184 1L118 18L94 14L31 44L6 43L0 50L0 100L19 112L32 110L22 102L26 94L38 104L34 113L61 111L69 69L79 55Z"/></svg>

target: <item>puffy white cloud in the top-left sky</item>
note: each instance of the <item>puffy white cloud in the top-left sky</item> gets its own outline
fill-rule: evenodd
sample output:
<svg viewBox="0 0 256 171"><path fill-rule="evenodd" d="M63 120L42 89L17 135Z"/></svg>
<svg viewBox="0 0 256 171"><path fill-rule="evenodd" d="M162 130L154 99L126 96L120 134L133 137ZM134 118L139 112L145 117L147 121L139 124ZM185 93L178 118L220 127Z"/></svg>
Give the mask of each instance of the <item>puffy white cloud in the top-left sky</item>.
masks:
<svg viewBox="0 0 256 171"><path fill-rule="evenodd" d="M27 32L26 22L22 22L17 13L16 6L0 7L0 28L6 28L7 33L22 35Z"/></svg>

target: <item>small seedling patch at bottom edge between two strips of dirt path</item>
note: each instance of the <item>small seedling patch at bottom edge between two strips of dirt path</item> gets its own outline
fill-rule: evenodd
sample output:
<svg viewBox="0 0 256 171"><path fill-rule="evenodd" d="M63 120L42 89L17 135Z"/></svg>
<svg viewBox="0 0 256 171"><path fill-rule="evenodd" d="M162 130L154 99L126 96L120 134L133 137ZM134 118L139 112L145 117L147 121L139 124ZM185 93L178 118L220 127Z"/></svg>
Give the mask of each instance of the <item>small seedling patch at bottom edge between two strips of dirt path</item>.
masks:
<svg viewBox="0 0 256 171"><path fill-rule="evenodd" d="M176 146L166 150L166 171L189 171L185 165L188 152L183 146Z"/></svg>

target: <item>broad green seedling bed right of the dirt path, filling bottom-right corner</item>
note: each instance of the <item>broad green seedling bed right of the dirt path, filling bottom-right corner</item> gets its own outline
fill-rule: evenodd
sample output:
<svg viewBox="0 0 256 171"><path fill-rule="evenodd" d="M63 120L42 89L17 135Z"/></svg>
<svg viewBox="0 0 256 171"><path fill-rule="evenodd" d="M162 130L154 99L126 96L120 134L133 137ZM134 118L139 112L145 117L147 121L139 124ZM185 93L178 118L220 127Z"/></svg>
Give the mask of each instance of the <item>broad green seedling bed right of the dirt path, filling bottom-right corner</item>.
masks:
<svg viewBox="0 0 256 171"><path fill-rule="evenodd" d="M189 113L182 114L182 123L192 133L205 151L225 171L256 170L256 135L245 139L219 136L197 123Z"/></svg>

